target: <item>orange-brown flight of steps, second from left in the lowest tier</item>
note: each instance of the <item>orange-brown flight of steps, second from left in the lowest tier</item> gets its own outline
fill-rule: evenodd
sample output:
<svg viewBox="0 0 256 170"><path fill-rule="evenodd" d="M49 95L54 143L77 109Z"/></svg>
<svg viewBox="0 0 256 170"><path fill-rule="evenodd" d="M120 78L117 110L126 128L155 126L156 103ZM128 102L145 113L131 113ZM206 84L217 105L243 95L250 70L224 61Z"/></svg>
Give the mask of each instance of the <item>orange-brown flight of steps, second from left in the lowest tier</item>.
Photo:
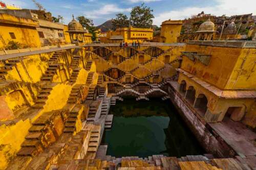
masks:
<svg viewBox="0 0 256 170"><path fill-rule="evenodd" d="M80 121L78 120L78 111L76 107L70 111L67 122L64 125L64 133L74 133L76 131L76 122Z"/></svg>

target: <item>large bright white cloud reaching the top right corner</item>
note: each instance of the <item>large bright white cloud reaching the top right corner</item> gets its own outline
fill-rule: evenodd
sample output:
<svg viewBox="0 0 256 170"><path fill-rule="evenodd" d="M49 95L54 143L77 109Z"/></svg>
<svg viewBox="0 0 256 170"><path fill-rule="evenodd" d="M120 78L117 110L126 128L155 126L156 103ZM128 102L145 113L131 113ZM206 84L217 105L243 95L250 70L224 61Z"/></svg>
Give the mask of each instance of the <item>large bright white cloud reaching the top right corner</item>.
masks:
<svg viewBox="0 0 256 170"><path fill-rule="evenodd" d="M210 7L186 7L182 9L172 10L160 13L155 16L154 24L161 25L167 19L184 19L191 15L197 15L201 11L206 14L221 16L239 15L239 14L256 14L256 1L255 0L215 0L217 5Z"/></svg>

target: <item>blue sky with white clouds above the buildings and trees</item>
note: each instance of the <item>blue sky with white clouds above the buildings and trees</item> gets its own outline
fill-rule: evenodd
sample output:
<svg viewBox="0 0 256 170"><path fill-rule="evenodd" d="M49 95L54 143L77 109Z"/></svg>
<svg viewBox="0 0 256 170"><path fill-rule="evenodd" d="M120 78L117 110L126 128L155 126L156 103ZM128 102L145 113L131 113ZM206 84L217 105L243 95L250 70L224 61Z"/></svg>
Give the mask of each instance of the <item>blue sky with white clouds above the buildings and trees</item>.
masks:
<svg viewBox="0 0 256 170"><path fill-rule="evenodd" d="M31 0L0 0L7 4L28 9L35 6ZM154 24L161 25L167 19L184 19L204 11L217 16L253 13L256 15L256 0L37 0L53 16L61 15L67 24L74 16L84 15L94 20L95 26L115 18L122 12L129 16L134 6L145 3L154 10Z"/></svg>

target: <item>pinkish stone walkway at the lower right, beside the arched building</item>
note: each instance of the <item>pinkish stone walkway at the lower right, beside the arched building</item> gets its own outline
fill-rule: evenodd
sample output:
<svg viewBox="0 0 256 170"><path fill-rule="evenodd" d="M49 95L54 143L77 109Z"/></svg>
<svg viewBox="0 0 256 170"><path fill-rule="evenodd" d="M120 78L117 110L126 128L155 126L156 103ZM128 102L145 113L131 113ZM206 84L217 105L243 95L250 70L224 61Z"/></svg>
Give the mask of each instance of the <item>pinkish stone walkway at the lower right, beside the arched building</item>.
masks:
<svg viewBox="0 0 256 170"><path fill-rule="evenodd" d="M240 122L224 118L220 123L209 123L239 156L256 155L256 133Z"/></svg>

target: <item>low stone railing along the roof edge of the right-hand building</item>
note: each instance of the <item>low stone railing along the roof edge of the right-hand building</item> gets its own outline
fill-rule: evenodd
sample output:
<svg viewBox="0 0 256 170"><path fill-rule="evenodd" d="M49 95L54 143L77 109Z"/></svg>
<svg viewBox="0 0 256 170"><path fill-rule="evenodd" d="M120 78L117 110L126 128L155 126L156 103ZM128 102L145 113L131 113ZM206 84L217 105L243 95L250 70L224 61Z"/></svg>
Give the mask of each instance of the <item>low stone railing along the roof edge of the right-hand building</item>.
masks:
<svg viewBox="0 0 256 170"><path fill-rule="evenodd" d="M187 44L256 48L256 41L188 41Z"/></svg>

